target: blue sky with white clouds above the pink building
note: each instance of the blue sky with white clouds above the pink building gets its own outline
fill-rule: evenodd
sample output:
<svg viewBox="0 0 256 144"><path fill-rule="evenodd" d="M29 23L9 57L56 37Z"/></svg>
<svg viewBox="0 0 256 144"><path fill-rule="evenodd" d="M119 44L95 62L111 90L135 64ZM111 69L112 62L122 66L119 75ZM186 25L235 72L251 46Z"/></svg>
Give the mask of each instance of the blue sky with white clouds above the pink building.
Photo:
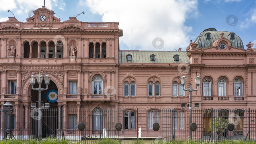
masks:
<svg viewBox="0 0 256 144"><path fill-rule="evenodd" d="M13 16L8 9L23 21L31 10L43 5L43 0L0 3L0 21ZM245 48L249 41L256 43L256 0L46 0L46 7L62 17L61 21L84 11L77 17L79 21L119 22L123 29L120 50L185 51L190 39L194 41L209 27L236 33ZM164 41L163 47L152 45L155 38Z"/></svg>

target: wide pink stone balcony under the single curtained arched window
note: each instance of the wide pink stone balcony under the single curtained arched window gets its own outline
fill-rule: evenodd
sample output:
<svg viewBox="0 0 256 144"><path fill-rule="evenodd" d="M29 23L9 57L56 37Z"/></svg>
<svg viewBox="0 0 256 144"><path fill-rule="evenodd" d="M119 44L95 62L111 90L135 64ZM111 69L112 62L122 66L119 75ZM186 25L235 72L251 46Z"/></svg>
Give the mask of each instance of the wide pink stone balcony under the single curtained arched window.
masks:
<svg viewBox="0 0 256 144"><path fill-rule="evenodd" d="M92 102L102 102L102 103L109 103L110 97L106 94L88 94L84 95L83 101L92 103Z"/></svg>

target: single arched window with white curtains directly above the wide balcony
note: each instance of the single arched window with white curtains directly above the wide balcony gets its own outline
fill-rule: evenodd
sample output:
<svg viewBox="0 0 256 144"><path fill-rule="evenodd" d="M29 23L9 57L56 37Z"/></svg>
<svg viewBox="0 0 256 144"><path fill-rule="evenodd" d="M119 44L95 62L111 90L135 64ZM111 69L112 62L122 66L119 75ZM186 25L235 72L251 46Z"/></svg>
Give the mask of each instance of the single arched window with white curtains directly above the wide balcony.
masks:
<svg viewBox="0 0 256 144"><path fill-rule="evenodd" d="M95 75L92 81L92 93L103 94L103 79L101 75Z"/></svg>

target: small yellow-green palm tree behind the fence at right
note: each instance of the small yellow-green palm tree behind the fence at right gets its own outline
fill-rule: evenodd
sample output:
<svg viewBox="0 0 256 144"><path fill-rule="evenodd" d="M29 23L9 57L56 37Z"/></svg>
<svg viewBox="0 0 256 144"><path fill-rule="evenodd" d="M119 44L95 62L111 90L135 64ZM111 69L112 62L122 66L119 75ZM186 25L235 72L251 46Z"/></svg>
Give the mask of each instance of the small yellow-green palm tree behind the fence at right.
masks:
<svg viewBox="0 0 256 144"><path fill-rule="evenodd" d="M212 123L212 121L210 120L210 123L209 123L210 129L209 129L209 131L211 131L211 123ZM220 134L225 132L225 130L227 129L228 123L229 123L229 120L225 119L223 117L214 118L212 132L217 133L218 140L220 140Z"/></svg>

